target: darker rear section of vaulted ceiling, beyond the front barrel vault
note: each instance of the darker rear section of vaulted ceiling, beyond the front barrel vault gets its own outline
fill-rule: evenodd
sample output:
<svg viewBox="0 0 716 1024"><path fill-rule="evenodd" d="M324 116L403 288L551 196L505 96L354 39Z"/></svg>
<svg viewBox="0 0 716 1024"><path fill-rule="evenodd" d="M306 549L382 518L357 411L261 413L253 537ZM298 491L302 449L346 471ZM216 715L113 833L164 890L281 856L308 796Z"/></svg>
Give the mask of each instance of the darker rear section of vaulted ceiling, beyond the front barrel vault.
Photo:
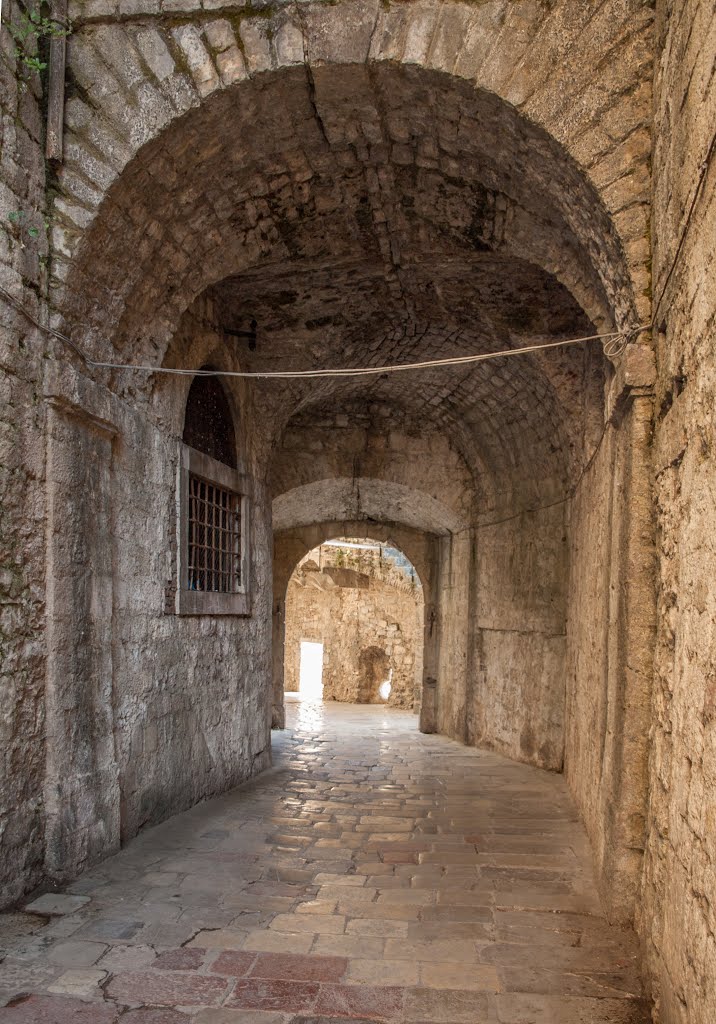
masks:
<svg viewBox="0 0 716 1024"><path fill-rule="evenodd" d="M563 286L518 259L433 253L405 263L401 279L393 296L383 269L368 261L333 269L277 264L226 281L213 296L222 326L247 332L256 322L256 349L239 342L252 371L399 365L593 331ZM566 349L476 367L259 383L256 390L262 409L304 431L330 413L360 420L372 404L388 407L383 430L440 429L476 475L486 465L497 474L546 457L554 462L558 452L564 482L581 439L583 387L584 351Z"/></svg>

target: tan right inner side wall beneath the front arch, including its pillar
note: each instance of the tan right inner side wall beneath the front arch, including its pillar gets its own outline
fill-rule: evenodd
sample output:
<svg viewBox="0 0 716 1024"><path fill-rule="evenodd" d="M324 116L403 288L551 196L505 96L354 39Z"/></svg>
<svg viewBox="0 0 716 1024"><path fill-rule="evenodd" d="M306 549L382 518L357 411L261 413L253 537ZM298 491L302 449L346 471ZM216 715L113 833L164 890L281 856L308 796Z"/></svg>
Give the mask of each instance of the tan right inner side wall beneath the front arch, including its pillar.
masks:
<svg viewBox="0 0 716 1024"><path fill-rule="evenodd" d="M648 785L650 385L648 377L634 386L617 430L606 425L572 504L565 772L594 845L602 897L625 922L638 898Z"/></svg>

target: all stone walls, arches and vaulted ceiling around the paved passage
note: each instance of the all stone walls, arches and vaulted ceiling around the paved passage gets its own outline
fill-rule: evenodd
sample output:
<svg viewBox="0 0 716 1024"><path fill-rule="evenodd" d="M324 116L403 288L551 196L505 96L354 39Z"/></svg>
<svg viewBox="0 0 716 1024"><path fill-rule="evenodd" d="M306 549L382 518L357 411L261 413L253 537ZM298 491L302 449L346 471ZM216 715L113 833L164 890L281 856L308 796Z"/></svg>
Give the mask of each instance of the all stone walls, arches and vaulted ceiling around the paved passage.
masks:
<svg viewBox="0 0 716 1024"><path fill-rule="evenodd" d="M70 7L60 162L0 33L0 901L267 767L291 573L372 537L421 728L563 771L655 1020L712 1024L713 3ZM172 613L191 376L37 327L265 373L651 321L226 379L239 617Z"/></svg>

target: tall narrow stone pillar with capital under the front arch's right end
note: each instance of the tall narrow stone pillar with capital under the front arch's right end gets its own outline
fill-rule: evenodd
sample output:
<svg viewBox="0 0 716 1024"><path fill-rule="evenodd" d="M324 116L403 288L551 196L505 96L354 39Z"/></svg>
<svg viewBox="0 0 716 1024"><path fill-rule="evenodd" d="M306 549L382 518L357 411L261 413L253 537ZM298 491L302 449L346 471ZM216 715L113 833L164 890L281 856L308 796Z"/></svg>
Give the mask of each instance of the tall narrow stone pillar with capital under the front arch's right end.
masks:
<svg viewBox="0 0 716 1024"><path fill-rule="evenodd" d="M624 353L609 394L617 430L608 594L606 729L599 888L613 922L631 923L641 876L656 636L651 482L654 354Z"/></svg>

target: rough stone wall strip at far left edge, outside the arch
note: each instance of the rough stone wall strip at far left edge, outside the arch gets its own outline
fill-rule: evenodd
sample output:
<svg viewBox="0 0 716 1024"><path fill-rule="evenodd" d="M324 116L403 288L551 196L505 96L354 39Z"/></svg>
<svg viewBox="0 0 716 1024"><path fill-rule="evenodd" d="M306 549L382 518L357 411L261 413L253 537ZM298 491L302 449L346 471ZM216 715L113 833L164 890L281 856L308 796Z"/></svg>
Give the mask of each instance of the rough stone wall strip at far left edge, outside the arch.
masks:
<svg viewBox="0 0 716 1024"><path fill-rule="evenodd" d="M45 162L37 76L20 74L0 31L0 286L45 312ZM0 299L0 906L42 876L45 496L43 367L47 342Z"/></svg>

